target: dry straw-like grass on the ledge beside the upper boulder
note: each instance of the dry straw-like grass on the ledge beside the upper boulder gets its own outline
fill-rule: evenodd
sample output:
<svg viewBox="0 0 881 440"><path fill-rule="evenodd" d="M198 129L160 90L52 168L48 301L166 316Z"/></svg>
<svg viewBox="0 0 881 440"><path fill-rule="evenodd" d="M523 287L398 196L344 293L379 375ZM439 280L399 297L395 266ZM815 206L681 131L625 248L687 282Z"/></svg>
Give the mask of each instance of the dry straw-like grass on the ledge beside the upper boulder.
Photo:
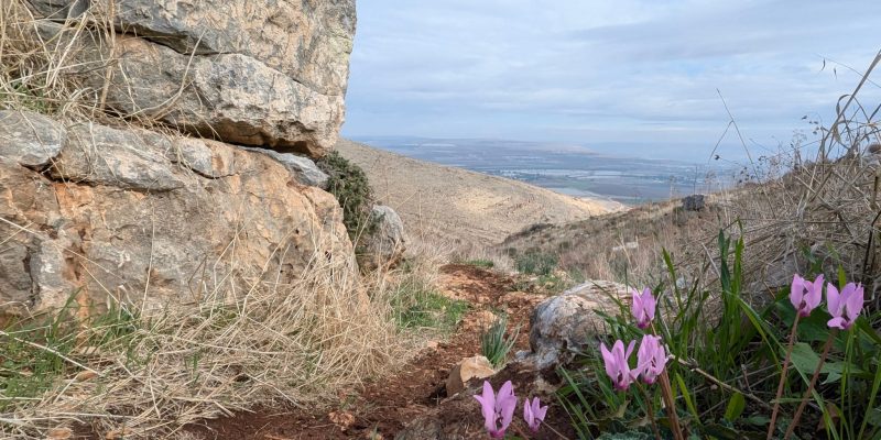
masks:
<svg viewBox="0 0 881 440"><path fill-rule="evenodd" d="M154 108L122 111L108 101L115 77L124 76L117 53L113 11L119 0L69 2L86 6L68 16L37 16L26 0L0 3L0 109L28 110L64 122L95 121L115 128L142 128L167 135L184 128L162 122L189 78L184 73L177 94ZM61 3L53 3L56 7ZM134 91L116 90L134 106ZM119 98L118 98L119 99Z"/></svg>

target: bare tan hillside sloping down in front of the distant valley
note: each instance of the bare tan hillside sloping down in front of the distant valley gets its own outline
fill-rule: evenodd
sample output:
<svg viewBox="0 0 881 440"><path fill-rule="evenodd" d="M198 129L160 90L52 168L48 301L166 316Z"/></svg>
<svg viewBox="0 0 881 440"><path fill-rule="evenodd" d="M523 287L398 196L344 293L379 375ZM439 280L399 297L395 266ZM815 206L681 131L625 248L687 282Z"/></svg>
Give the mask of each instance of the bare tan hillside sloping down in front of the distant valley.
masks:
<svg viewBox="0 0 881 440"><path fill-rule="evenodd" d="M347 140L336 150L365 169L378 199L398 211L411 237L457 248L491 245L536 223L566 223L622 208Z"/></svg>

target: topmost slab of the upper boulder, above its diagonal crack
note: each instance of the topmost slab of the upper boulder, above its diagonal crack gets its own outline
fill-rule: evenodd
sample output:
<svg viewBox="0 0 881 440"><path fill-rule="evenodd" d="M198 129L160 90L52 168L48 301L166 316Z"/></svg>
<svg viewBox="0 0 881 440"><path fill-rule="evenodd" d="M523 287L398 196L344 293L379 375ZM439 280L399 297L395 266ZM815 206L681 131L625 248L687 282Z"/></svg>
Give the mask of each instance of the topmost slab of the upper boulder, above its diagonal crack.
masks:
<svg viewBox="0 0 881 440"><path fill-rule="evenodd" d="M346 92L355 0L126 0L115 12L121 29L181 54L239 54L318 94Z"/></svg>

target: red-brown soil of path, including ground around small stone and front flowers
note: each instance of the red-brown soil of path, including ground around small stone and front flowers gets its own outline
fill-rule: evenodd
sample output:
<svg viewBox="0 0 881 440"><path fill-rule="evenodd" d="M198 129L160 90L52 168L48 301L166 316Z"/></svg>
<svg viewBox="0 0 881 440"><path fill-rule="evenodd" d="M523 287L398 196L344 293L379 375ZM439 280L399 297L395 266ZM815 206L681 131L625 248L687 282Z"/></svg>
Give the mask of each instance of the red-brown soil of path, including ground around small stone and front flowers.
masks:
<svg viewBox="0 0 881 440"><path fill-rule="evenodd" d="M483 323L479 320L487 310L509 314L510 328L520 326L514 351L527 349L529 316L544 297L513 292L510 278L469 265L447 265L442 275L445 294L469 301L470 312L455 334L436 346L429 344L390 377L366 384L356 391L357 394L344 399L345 404L338 408L312 413L257 408L230 418L206 420L188 427L188 431L197 438L217 440L391 439L414 420L428 419L445 431L440 437L449 433L455 438L488 438L479 405L470 397L476 387L449 398L444 381L457 362L480 353L479 334ZM537 393L531 389L534 377L535 372L522 371L522 365L518 364L503 370L491 382L498 387L505 380L513 381L522 403L525 393ZM521 415L522 407L518 406L515 419ZM568 419L562 410L552 407L547 419L561 425L554 427L557 430L568 430ZM524 428L522 421L516 421L515 426ZM547 429L543 431L535 438L558 438L546 432ZM411 433L409 438L423 436L427 433Z"/></svg>

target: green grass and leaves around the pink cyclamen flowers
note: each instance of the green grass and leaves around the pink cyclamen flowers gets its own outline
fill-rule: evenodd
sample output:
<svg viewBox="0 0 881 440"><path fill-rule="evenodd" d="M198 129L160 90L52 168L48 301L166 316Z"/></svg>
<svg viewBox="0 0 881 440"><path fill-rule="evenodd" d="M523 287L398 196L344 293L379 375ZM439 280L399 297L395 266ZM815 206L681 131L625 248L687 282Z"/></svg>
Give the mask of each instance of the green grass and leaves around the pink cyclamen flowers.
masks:
<svg viewBox="0 0 881 440"><path fill-rule="evenodd" d="M687 288L675 283L652 286L653 292L663 293L654 327L678 360L667 364L667 373L685 429L698 438L764 438L771 415L769 402L776 391L795 312L787 288L762 308L750 305L743 296L742 239L732 240L720 232L718 246L720 257L715 265L719 279L713 288L700 288L697 282ZM673 257L666 252L664 263L667 279L679 279ZM813 278L814 274L807 275ZM642 336L629 309L620 302L619 307L617 316L603 316L610 329L605 338L607 344ZM780 437L817 366L820 345L829 334L828 319L820 307L798 326L798 353L782 397ZM877 373L881 362L881 334L875 330L879 321L878 312L862 317L855 330L836 338L812 398L814 405L796 430L801 438L881 438L881 406L877 400L881 387L881 373ZM655 409L661 430L670 435L666 414L659 409L659 386L644 386L646 394L633 387L626 393L614 392L603 372L598 344L587 350L579 362L580 367L563 371L566 385L558 392L579 438L651 435L645 425L648 408ZM817 427L819 432L815 431Z"/></svg>

